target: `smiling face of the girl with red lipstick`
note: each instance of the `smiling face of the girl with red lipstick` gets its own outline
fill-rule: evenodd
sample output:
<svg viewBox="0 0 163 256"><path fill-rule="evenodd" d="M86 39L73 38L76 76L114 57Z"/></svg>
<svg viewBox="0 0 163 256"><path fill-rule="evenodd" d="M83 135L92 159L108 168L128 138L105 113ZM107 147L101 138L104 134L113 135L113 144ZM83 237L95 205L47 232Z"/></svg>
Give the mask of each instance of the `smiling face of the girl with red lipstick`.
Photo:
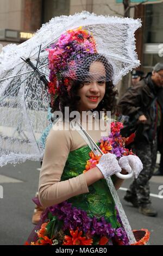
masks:
<svg viewBox="0 0 163 256"><path fill-rule="evenodd" d="M80 96L79 111L89 111L97 108L105 94L105 68L101 62L92 62L90 74L96 74L96 78L85 77L84 86L78 90Z"/></svg>

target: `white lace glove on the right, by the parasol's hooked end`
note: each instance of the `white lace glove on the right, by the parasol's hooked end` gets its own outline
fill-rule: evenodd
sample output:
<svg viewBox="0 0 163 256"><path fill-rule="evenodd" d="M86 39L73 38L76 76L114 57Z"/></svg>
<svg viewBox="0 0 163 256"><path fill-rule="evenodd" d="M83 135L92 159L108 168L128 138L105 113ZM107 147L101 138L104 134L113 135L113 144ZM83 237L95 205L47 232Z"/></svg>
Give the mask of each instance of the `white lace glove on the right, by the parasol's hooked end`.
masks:
<svg viewBox="0 0 163 256"><path fill-rule="evenodd" d="M137 179L138 175L143 169L143 164L138 156L122 156L118 162L120 167L126 170L128 173L133 171L135 179Z"/></svg>

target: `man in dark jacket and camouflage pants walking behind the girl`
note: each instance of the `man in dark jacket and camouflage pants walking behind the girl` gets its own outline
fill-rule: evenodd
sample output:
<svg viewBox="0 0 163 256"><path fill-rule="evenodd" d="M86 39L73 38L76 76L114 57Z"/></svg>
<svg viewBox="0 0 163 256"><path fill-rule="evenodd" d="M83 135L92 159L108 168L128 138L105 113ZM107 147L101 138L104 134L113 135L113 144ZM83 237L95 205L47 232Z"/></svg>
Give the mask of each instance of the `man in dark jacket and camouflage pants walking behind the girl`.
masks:
<svg viewBox="0 0 163 256"><path fill-rule="evenodd" d="M133 144L133 152L143 163L139 177L130 185L124 200L139 208L141 214L156 216L150 200L149 180L151 179L157 153L157 131L161 126L161 109L158 104L163 90L163 63L154 66L145 78L130 87L118 103L118 110L129 116L129 122L141 133ZM136 137L135 137L136 138Z"/></svg>

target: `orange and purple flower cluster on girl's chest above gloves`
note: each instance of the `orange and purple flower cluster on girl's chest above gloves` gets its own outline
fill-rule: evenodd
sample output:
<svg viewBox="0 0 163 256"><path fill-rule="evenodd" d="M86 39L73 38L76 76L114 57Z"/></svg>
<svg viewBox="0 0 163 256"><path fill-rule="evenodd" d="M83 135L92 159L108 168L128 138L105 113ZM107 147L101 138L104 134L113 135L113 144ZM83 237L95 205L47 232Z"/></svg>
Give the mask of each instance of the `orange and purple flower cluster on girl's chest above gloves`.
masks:
<svg viewBox="0 0 163 256"><path fill-rule="evenodd" d="M132 150L129 150L126 147L129 143L134 140L135 135L132 134L130 137L122 137L120 132L123 128L123 124L120 122L111 122L111 132L108 137L103 137L99 141L99 148L103 151L104 154L111 153L115 154L116 157L134 155ZM83 173L88 170L96 167L96 164L99 162L101 156L95 155L92 151L89 153L90 159L87 160L85 170Z"/></svg>

